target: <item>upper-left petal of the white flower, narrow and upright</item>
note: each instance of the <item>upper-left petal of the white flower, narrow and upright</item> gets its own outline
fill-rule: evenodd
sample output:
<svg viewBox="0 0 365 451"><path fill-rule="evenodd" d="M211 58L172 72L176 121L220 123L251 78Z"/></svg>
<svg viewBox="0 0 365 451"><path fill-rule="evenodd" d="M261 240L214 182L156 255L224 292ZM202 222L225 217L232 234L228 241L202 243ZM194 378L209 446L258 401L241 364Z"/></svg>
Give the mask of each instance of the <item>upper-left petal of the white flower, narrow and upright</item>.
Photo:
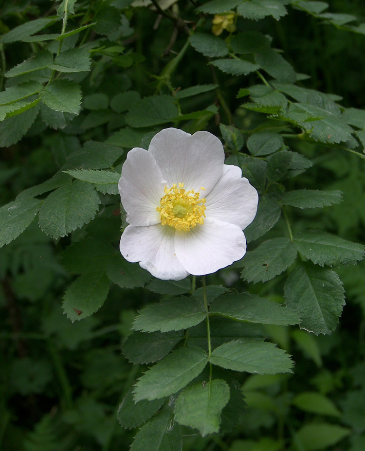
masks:
<svg viewBox="0 0 365 451"><path fill-rule="evenodd" d="M152 154L139 147L130 150L118 184L127 222L136 226L160 222L156 208L164 196L165 186L166 181Z"/></svg>

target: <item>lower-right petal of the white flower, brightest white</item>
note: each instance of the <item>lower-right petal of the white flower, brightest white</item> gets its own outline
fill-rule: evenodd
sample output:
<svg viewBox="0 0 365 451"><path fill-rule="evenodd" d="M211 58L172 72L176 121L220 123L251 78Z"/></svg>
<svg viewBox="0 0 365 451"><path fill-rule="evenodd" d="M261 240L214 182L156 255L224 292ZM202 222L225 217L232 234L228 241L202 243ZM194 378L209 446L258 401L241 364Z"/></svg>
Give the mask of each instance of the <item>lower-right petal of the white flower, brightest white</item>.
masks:
<svg viewBox="0 0 365 451"><path fill-rule="evenodd" d="M175 251L190 274L210 274L242 258L246 238L237 225L207 218L189 232L176 233Z"/></svg>

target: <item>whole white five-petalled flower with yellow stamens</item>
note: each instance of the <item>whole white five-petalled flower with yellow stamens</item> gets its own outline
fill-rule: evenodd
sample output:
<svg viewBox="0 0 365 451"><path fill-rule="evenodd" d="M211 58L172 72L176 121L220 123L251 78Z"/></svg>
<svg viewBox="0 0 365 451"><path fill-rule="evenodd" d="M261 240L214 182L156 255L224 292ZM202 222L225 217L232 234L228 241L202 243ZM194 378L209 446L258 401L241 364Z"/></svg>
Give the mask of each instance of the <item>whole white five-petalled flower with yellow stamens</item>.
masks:
<svg viewBox="0 0 365 451"><path fill-rule="evenodd" d="M130 224L120 252L153 276L210 274L246 253L257 191L211 133L165 128L128 152L118 186Z"/></svg>

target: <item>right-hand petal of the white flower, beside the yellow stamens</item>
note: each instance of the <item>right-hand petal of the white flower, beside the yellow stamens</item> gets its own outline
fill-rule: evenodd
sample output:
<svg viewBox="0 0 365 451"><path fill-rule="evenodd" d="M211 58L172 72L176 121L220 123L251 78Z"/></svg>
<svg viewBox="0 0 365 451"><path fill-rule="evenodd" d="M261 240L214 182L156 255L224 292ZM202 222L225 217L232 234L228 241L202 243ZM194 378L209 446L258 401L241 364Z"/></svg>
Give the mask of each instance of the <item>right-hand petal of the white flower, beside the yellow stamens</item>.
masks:
<svg viewBox="0 0 365 451"><path fill-rule="evenodd" d="M257 191L242 178L241 169L225 164L221 178L206 196L205 216L245 229L256 216L257 202Z"/></svg>

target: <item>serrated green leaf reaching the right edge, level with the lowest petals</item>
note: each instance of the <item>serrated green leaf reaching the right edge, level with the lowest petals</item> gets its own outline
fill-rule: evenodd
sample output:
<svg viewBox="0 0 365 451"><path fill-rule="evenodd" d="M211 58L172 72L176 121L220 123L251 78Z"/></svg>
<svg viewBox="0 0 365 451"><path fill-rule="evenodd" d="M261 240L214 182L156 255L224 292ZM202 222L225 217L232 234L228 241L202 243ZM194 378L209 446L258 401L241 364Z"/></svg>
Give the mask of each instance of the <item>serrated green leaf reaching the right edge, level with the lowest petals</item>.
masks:
<svg viewBox="0 0 365 451"><path fill-rule="evenodd" d="M364 246L322 231L302 232L294 237L298 251L313 263L338 265L356 263L364 258Z"/></svg>

